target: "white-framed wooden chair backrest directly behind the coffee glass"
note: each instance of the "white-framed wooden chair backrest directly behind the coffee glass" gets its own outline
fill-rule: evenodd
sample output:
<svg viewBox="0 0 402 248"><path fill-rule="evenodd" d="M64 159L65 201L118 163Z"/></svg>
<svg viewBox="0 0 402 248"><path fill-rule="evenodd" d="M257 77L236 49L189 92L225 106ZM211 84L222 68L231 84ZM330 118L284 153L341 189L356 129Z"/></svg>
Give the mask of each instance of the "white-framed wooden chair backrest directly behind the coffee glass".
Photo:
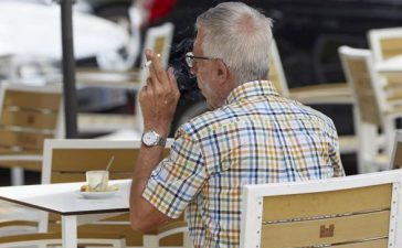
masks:
<svg viewBox="0 0 402 248"><path fill-rule="evenodd" d="M112 157L109 179L130 179L139 140L45 140L42 184L84 182L85 172L105 170Z"/></svg>

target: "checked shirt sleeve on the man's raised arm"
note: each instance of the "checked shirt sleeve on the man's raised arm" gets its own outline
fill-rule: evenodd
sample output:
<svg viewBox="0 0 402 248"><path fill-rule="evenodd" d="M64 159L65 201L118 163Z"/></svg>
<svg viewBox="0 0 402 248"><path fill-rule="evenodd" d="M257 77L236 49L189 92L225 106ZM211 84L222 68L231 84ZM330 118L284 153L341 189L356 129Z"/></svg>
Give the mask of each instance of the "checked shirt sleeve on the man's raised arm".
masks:
<svg viewBox="0 0 402 248"><path fill-rule="evenodd" d="M207 177L199 143L179 132L169 157L152 171L142 197L170 218L178 218Z"/></svg>

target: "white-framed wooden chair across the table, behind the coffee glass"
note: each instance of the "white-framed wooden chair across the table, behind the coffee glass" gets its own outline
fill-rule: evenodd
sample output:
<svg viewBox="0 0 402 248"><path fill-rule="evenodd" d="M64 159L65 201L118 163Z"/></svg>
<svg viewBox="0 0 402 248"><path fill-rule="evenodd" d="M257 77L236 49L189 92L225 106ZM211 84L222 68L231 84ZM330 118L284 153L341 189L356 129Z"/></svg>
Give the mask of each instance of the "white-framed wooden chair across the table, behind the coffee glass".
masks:
<svg viewBox="0 0 402 248"><path fill-rule="evenodd" d="M166 154L170 144L169 139ZM130 179L139 147L139 140L46 140L42 183L84 182L86 171L105 170L112 157L115 160L109 169L109 179ZM59 220L60 216L49 215L47 218L44 215L40 229L61 231ZM189 247L188 237L182 234L187 229L186 222L177 220L173 224L142 236L130 228L128 214L125 214L80 226L78 234L92 234L93 238L102 238L104 234L123 234L128 247Z"/></svg>

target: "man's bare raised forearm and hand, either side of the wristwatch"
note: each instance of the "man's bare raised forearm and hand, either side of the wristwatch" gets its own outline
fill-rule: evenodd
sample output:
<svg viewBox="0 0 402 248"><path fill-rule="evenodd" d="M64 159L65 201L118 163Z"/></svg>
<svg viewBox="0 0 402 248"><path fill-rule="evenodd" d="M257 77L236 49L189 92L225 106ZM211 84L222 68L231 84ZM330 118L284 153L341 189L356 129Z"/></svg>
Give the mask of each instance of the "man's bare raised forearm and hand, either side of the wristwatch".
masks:
<svg viewBox="0 0 402 248"><path fill-rule="evenodd" d="M165 71L152 51L147 50L146 56L151 64L150 76L139 94L144 128L168 137L180 97L179 88L172 69ZM142 145L138 152L130 192L130 222L134 229L147 231L169 219L142 197L150 174L162 160L162 155L163 148L160 145L151 148Z"/></svg>

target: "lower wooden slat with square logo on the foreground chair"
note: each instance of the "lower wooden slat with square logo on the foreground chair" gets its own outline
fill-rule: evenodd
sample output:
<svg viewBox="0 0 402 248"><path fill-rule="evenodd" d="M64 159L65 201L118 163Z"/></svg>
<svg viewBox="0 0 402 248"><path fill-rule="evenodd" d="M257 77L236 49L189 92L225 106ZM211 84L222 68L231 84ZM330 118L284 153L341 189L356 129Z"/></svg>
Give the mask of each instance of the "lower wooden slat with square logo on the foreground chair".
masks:
<svg viewBox="0 0 402 248"><path fill-rule="evenodd" d="M262 228L262 247L309 247L388 237L389 220L390 212L382 211L317 220L268 224Z"/></svg>

